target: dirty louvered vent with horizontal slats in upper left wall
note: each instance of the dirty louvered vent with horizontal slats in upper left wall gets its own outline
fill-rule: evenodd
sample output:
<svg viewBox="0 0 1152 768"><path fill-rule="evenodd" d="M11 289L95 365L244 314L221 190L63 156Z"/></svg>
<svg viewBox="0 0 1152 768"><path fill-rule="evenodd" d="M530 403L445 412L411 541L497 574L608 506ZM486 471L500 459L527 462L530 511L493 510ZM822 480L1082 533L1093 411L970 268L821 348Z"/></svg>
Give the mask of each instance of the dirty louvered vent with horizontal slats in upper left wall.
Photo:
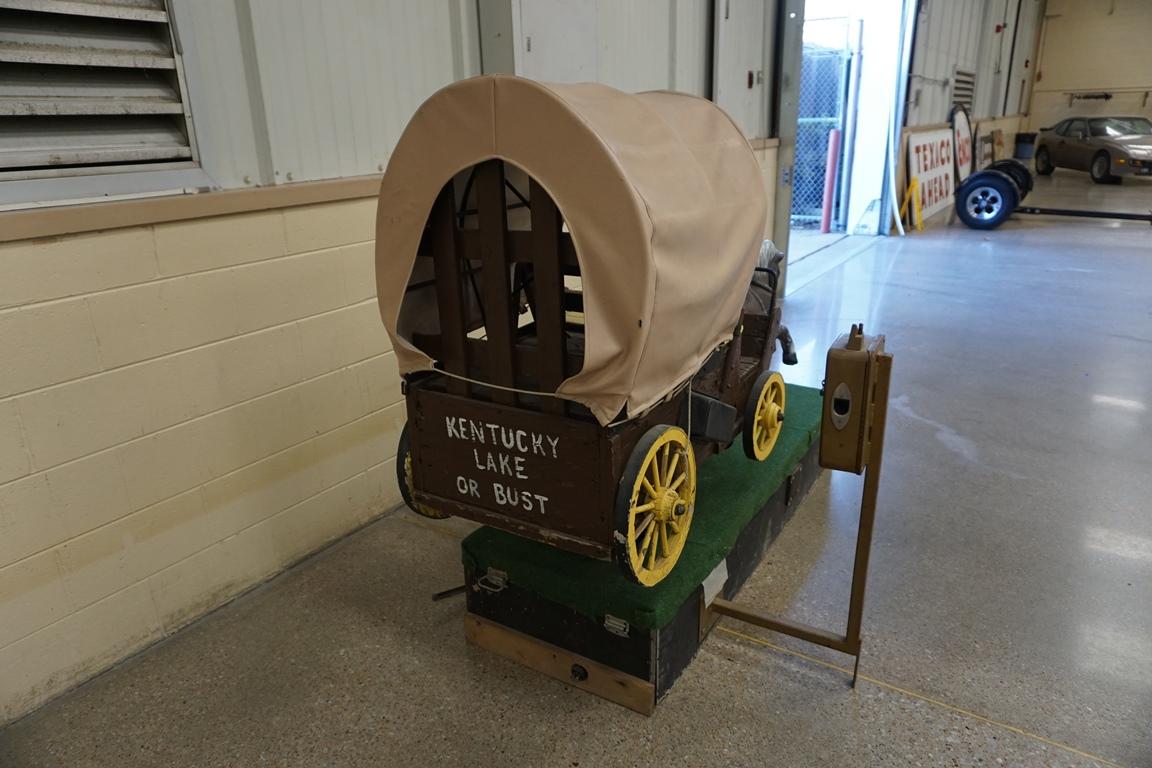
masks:
<svg viewBox="0 0 1152 768"><path fill-rule="evenodd" d="M0 0L0 182L196 161L165 0Z"/></svg>

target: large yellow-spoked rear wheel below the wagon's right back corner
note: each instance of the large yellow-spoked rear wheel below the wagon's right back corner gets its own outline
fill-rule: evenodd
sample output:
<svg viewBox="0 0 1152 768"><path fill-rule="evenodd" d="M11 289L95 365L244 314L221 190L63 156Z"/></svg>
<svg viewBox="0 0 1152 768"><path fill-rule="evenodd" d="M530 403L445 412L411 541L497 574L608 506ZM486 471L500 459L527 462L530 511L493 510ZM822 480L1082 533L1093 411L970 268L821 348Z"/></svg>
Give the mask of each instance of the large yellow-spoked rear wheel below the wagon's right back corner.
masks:
<svg viewBox="0 0 1152 768"><path fill-rule="evenodd" d="M680 427L644 433L624 466L616 493L616 561L653 586L672 572L688 540L696 507L696 457Z"/></svg>

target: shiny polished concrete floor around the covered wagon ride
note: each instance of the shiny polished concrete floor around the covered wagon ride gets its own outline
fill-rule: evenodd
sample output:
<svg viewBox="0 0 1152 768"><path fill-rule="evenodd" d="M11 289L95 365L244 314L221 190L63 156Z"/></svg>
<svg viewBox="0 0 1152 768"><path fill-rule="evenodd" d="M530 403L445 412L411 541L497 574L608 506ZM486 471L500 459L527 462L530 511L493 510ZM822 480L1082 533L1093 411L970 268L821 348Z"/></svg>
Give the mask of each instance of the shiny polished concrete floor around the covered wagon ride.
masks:
<svg viewBox="0 0 1152 768"><path fill-rule="evenodd" d="M1152 207L1062 176L1037 198ZM785 373L818 385L854 321L895 355L856 691L725 622L635 715L465 646L429 595L468 526L397 514L0 732L0 766L1152 766L1152 230L841 245L791 282ZM826 473L741 599L835 625L858 492Z"/></svg>

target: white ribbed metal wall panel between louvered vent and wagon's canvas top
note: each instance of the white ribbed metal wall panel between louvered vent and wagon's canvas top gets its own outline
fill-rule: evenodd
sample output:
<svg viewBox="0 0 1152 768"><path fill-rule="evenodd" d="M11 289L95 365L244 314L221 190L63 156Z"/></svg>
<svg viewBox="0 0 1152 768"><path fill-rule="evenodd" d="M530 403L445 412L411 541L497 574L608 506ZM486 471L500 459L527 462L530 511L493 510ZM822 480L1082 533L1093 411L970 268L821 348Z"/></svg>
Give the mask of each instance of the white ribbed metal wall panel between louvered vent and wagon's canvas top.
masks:
<svg viewBox="0 0 1152 768"><path fill-rule="evenodd" d="M379 172L411 114L461 68L447 2L250 6L274 183Z"/></svg>

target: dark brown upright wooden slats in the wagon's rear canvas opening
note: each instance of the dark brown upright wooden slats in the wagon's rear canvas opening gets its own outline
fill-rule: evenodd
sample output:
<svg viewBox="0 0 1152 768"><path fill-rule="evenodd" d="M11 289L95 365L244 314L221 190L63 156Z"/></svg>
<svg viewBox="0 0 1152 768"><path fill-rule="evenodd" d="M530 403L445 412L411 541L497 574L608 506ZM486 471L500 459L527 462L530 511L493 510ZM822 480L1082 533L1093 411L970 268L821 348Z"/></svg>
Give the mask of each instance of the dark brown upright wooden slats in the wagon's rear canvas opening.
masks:
<svg viewBox="0 0 1152 768"><path fill-rule="evenodd" d="M579 266L556 204L530 180L531 229L509 229L508 187L502 161L475 167L467 189L475 193L476 229L460 226L455 181L440 191L419 248L434 265L440 334L417 335L412 342L447 373L495 385L486 388L494 402L528 405L510 389L532 382L537 390L555 391L583 365L583 344L574 343L582 340L570 337L564 312L582 312L584 305L579 291L564 287L564 276L578 275ZM522 295L533 322L517 327ZM468 317L471 306L482 315L482 339L469 335L477 328ZM473 394L461 379L449 377L447 387L456 395ZM531 400L540 410L566 412L559 398Z"/></svg>

